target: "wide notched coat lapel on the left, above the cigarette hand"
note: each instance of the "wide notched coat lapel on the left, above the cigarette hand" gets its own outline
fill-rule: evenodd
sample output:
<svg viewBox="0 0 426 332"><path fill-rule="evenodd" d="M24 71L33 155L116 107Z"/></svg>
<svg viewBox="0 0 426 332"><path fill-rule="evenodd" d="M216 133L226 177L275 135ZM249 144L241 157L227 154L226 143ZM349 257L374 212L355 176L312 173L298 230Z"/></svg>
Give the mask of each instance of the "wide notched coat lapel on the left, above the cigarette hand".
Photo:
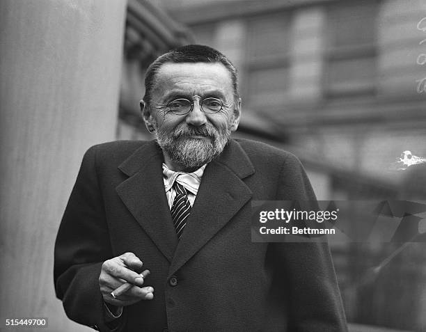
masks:
<svg viewBox="0 0 426 332"><path fill-rule="evenodd" d="M164 191L162 162L157 143L145 143L118 166L129 178L119 184L116 191L152 242L171 262L178 236Z"/></svg>

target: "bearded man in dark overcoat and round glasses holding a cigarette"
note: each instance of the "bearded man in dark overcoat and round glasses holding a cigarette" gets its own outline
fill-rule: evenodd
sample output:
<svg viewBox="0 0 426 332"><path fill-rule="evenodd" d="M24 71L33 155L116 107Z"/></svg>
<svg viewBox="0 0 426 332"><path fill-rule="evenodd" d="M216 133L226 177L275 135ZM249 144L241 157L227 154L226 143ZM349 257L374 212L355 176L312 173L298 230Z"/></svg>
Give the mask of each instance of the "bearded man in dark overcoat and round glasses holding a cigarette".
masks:
<svg viewBox="0 0 426 332"><path fill-rule="evenodd" d="M180 47L145 87L157 140L90 148L66 207L54 278L68 317L100 331L346 331L325 244L251 242L251 200L315 196L296 157L230 139L232 63Z"/></svg>

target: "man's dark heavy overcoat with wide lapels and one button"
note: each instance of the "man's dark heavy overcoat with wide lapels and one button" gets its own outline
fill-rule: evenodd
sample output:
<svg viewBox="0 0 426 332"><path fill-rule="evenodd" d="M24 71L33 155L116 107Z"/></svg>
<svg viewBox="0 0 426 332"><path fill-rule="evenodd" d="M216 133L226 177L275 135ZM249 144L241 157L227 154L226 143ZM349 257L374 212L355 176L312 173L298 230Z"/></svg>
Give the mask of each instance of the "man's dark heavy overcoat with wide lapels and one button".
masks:
<svg viewBox="0 0 426 332"><path fill-rule="evenodd" d="M251 242L251 200L315 200L294 155L232 140L205 168L180 241L162 162L155 141L86 152L55 247L56 295L70 319L109 331L102 262L132 252L155 296L125 307L117 331L347 331L326 244Z"/></svg>

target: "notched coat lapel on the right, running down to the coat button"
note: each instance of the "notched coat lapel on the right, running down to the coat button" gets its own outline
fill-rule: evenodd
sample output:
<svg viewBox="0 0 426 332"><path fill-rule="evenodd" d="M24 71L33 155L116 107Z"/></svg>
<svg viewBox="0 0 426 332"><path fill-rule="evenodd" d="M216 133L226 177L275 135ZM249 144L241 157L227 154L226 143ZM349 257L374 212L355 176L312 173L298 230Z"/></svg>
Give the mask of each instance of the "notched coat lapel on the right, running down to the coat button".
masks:
<svg viewBox="0 0 426 332"><path fill-rule="evenodd" d="M236 141L205 168L200 189L169 270L170 276L200 250L252 197L242 181L253 165Z"/></svg>

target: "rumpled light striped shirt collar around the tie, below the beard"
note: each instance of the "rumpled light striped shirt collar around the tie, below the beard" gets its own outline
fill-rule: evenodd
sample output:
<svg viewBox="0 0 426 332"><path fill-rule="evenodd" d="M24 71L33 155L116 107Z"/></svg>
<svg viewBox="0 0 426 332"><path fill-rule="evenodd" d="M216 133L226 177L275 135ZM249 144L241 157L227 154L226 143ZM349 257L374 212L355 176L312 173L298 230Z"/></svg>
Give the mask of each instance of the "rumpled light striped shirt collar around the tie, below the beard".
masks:
<svg viewBox="0 0 426 332"><path fill-rule="evenodd" d="M201 177L203 177L205 166L207 166L207 164L204 164L192 173L185 173L172 171L163 163L164 189L166 189L166 192L171 190L176 181L179 184L182 184L182 186L188 191L191 191L191 193L196 195L198 193L198 188L200 187Z"/></svg>

